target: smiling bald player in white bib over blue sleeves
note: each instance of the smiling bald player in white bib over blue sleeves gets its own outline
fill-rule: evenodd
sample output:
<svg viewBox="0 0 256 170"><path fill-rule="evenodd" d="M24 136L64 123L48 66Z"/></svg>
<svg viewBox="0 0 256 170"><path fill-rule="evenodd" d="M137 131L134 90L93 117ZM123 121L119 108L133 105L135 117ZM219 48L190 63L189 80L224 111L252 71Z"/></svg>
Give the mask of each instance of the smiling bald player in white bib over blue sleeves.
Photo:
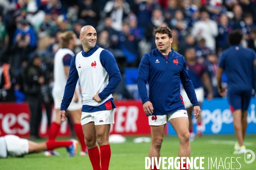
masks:
<svg viewBox="0 0 256 170"><path fill-rule="evenodd" d="M88 155L93 170L108 170L111 157L108 138L116 108L111 93L121 81L121 74L113 54L95 45L97 33L92 26L84 26L79 38L83 50L71 60L59 115L61 121L67 120L65 111L73 98L79 78L83 96L81 124Z"/></svg>

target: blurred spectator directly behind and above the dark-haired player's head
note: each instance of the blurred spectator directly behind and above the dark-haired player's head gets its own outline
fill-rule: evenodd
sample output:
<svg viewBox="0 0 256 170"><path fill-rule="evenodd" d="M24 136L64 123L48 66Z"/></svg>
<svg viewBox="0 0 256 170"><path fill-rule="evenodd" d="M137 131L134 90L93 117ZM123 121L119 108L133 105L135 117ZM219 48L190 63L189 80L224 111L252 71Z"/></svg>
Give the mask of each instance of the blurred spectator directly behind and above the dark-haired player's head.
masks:
<svg viewBox="0 0 256 170"><path fill-rule="evenodd" d="M153 29L163 24L164 20L165 18L163 17L162 11L160 9L155 9L152 13L151 22L148 24L148 26L145 29L146 41L150 42L152 40L152 37L154 35Z"/></svg>

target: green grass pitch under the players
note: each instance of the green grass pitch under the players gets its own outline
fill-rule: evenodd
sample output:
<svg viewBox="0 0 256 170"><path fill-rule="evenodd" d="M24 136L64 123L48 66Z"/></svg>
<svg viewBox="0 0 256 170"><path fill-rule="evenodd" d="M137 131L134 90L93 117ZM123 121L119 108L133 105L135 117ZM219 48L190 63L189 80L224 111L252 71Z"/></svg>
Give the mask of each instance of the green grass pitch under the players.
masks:
<svg viewBox="0 0 256 170"><path fill-rule="evenodd" d="M63 140L63 138L58 139ZM150 143L136 144L133 143L133 139L134 137L127 137L125 143L111 144L112 155L109 170L145 170L145 157L148 156ZM36 140L36 142L42 141L44 140ZM227 168L230 165L230 157L241 157L237 159L241 164L240 170L256 170L256 160L251 164L245 164L244 154L233 155L235 141L235 135L204 135L202 138L197 138L194 142L191 142L191 156L205 157L203 167L206 170L208 170L208 157L214 161L217 157L217 165L220 162L220 158L224 164L224 159L229 157L229 159L226 159ZM256 153L256 134L247 135L245 145L247 149ZM178 153L178 147L179 140L177 136L165 136L161 156L175 158ZM8 159L0 159L0 170L93 170L89 157L79 155L80 148L74 158L67 156L65 148L56 149L56 151L61 153L61 156L45 157L44 153L34 153L23 158L9 156ZM239 169L240 165L236 159L233 159L232 162L235 162L232 164L232 169ZM217 165L215 164L212 169L216 169ZM222 166L217 167L220 170L224 168ZM160 169L162 170L162 166ZM210 164L209 169L211 169Z"/></svg>

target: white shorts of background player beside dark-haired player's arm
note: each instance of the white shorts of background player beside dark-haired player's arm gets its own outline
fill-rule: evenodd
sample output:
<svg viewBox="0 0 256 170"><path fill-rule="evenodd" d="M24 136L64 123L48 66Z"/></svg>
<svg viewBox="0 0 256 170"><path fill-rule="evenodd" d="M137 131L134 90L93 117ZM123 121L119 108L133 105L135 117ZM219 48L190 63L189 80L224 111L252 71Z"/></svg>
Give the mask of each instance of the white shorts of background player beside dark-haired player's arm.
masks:
<svg viewBox="0 0 256 170"><path fill-rule="evenodd" d="M185 108L191 108L193 105L190 102L189 97L187 96L186 91L183 88L180 90L180 95L183 98ZM195 95L196 95L196 98L198 99L198 102L203 102L204 101L204 88L203 87L195 88Z"/></svg>

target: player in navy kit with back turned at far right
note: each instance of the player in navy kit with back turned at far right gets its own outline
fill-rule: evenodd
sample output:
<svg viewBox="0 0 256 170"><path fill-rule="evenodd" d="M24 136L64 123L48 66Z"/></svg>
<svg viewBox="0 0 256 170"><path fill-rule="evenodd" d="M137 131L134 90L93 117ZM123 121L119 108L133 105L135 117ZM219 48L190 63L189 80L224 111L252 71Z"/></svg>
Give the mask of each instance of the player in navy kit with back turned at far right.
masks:
<svg viewBox="0 0 256 170"><path fill-rule="evenodd" d="M226 90L221 86L221 75L227 75L227 99L233 114L233 125L238 142L234 154L244 153L244 137L247 129L247 109L253 89L253 65L256 66L256 53L240 45L243 35L236 30L230 33L228 40L232 45L223 51L217 68L218 92L221 96Z"/></svg>

